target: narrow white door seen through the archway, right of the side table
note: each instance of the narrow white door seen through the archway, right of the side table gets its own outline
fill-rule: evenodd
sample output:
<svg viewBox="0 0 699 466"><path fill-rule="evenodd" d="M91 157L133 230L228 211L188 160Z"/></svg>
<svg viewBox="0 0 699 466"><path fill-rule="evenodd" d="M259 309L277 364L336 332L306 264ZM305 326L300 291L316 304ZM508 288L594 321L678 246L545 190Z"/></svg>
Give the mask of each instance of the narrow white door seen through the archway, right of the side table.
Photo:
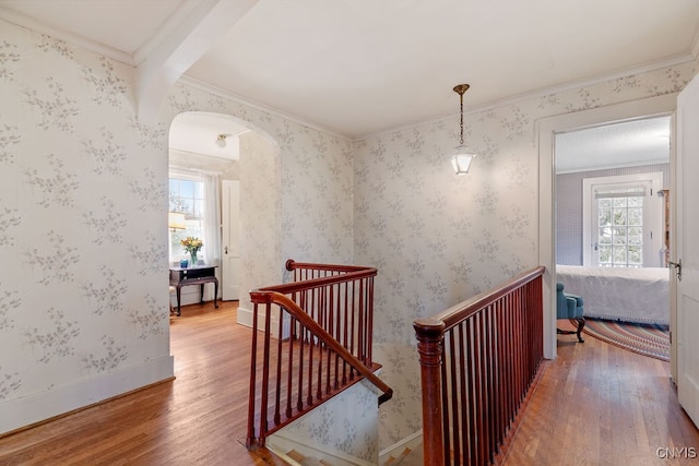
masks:
<svg viewBox="0 0 699 466"><path fill-rule="evenodd" d="M240 182L222 181L223 232L221 292L224 301L240 298Z"/></svg>

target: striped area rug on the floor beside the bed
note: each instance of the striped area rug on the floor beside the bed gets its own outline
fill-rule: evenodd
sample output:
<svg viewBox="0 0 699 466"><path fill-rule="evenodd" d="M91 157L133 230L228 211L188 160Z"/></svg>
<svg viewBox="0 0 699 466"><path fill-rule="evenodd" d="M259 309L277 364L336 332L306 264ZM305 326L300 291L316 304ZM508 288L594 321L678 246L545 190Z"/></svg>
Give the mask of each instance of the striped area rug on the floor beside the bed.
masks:
<svg viewBox="0 0 699 466"><path fill-rule="evenodd" d="M585 319L582 333L651 358L670 361L670 328L667 325L637 324Z"/></svg>

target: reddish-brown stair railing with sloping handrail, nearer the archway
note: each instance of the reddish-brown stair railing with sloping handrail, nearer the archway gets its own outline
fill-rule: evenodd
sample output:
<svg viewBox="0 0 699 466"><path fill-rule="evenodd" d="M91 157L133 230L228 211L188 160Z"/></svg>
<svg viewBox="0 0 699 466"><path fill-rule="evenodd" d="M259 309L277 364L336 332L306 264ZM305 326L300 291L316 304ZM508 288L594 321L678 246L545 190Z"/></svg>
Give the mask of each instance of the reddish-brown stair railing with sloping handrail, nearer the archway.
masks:
<svg viewBox="0 0 699 466"><path fill-rule="evenodd" d="M250 291L261 332L252 333L248 446L363 379L382 392L379 404L393 393L371 360L377 270L292 260L286 268L294 282Z"/></svg>

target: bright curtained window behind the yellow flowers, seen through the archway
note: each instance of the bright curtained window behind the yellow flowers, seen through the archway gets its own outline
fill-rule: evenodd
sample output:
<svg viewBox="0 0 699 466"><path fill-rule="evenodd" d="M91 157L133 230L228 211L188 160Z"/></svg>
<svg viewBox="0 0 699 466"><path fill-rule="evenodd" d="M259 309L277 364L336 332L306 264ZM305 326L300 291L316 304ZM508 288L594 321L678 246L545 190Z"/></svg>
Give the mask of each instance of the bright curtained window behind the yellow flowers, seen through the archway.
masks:
<svg viewBox="0 0 699 466"><path fill-rule="evenodd" d="M169 212L185 214L186 229L170 231L169 260L188 259L181 240L188 236L204 238L204 183L196 176L170 174ZM205 242L200 254L203 255Z"/></svg>

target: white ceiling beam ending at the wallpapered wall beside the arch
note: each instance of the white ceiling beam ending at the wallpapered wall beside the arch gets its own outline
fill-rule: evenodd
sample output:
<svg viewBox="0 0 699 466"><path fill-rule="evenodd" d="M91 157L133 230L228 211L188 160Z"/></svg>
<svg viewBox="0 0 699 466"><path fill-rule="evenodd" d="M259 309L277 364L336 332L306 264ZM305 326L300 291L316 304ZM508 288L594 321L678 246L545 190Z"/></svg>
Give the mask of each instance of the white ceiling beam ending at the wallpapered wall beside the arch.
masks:
<svg viewBox="0 0 699 466"><path fill-rule="evenodd" d="M202 0L137 58L139 120L152 123L170 86L259 0Z"/></svg>

